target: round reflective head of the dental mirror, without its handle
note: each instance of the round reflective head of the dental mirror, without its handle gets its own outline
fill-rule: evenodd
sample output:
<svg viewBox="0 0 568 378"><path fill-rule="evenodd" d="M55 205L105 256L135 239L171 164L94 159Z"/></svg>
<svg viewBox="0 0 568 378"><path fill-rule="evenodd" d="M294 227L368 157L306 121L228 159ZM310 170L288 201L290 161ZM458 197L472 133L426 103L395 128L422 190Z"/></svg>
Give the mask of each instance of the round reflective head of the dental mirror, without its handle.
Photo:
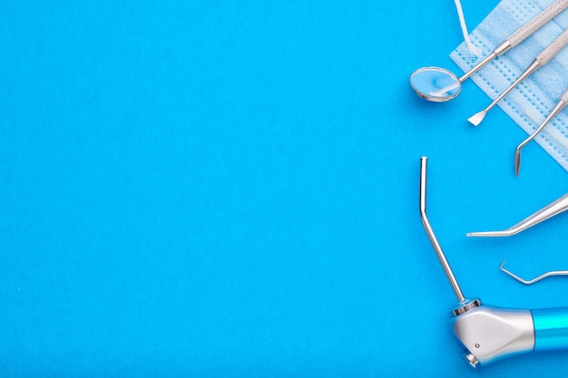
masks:
<svg viewBox="0 0 568 378"><path fill-rule="evenodd" d="M410 75L410 85L418 96L432 102L445 102L455 98L462 83L454 73L439 67L424 67Z"/></svg>

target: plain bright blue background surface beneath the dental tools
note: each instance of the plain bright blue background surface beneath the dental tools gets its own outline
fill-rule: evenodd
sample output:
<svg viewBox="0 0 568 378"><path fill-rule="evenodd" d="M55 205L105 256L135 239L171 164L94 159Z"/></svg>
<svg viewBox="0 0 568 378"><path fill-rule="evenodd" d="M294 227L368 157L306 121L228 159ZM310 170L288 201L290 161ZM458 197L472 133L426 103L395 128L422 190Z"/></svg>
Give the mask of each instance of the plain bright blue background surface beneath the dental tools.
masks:
<svg viewBox="0 0 568 378"><path fill-rule="evenodd" d="M471 29L497 4L465 1ZM566 172L455 69L451 1L8 2L0 12L2 376L563 376L472 371L455 297L567 305L565 215L504 239Z"/></svg>

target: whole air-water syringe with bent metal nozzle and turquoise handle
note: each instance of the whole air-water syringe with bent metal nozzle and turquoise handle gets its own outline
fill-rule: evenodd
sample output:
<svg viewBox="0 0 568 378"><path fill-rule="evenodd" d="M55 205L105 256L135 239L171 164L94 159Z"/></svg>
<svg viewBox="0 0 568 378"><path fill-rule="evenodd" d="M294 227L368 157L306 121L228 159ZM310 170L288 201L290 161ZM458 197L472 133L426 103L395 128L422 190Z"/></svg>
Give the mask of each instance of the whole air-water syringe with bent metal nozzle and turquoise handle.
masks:
<svg viewBox="0 0 568 378"><path fill-rule="evenodd" d="M457 284L442 247L426 216L426 163L420 164L420 218L446 277L454 289L457 305L450 324L455 338L465 348L463 355L472 367L505 357L535 351L568 348L568 307L539 310L499 308L467 299Z"/></svg>

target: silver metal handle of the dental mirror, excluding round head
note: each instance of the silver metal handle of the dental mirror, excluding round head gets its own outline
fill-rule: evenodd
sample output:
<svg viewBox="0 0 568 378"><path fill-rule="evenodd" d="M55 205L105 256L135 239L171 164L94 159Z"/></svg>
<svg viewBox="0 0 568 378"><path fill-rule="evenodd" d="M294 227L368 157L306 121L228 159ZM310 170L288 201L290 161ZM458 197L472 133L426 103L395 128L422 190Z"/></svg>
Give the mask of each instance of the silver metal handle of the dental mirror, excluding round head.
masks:
<svg viewBox="0 0 568 378"><path fill-rule="evenodd" d="M514 34L511 34L507 37L503 44L498 45L495 47L495 50L492 53L489 53L484 60L475 64L471 70L467 73L464 73L458 80L460 82L465 82L471 75L475 72L482 69L485 64L491 62L495 57L500 56L514 46L522 43L527 37L531 34L534 34L538 29L544 26L544 24L548 23L552 20L556 15L559 15L564 9L568 7L568 0L557 0L553 5L550 5L548 8L544 9L538 15L535 15L534 18L529 21L528 23L521 26Z"/></svg>

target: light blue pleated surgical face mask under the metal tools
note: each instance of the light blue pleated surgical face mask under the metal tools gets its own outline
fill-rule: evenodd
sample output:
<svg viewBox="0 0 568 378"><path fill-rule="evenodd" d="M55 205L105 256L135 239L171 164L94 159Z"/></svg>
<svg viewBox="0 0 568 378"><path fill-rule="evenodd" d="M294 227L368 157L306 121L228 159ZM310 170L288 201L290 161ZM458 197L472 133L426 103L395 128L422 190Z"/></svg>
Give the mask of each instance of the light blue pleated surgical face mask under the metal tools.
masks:
<svg viewBox="0 0 568 378"><path fill-rule="evenodd" d="M475 28L470 35L471 40L475 46L481 48L485 56L552 3L553 0L503 0ZM524 43L475 73L472 80L487 96L495 100L565 29L568 29L568 9L545 24ZM465 44L460 44L450 54L450 58L463 71L468 71L483 56L478 57L471 53ZM568 48L564 48L550 63L533 73L505 96L498 105L524 131L531 134L544 121L567 89ZM568 170L568 110L561 111L554 117L534 141L537 141L554 160Z"/></svg>

